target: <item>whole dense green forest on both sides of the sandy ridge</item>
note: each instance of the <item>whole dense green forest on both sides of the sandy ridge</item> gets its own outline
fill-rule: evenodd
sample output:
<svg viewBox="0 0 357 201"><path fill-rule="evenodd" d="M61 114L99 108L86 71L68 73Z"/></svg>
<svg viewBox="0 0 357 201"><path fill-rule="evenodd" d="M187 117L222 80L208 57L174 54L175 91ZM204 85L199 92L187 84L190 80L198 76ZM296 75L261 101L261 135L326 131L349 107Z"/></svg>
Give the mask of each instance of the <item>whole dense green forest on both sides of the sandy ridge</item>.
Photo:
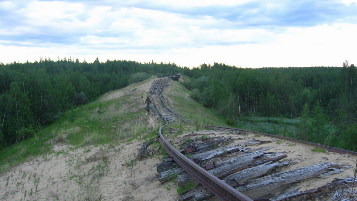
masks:
<svg viewBox="0 0 357 201"><path fill-rule="evenodd" d="M342 67L237 68L107 60L0 63L0 150L34 135L61 113L151 75L185 74L205 107L239 124L244 117L301 117L297 138L355 150L357 73ZM327 135L327 125L336 132Z"/></svg>

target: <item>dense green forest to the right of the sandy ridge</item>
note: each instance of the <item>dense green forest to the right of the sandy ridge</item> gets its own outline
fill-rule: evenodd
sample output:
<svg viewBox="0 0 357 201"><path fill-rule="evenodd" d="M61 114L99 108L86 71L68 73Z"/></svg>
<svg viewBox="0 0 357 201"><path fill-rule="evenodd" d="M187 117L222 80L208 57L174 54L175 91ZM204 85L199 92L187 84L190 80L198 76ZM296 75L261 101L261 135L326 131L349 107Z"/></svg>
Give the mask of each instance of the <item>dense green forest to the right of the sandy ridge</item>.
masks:
<svg viewBox="0 0 357 201"><path fill-rule="evenodd" d="M357 74L342 67L244 69L202 64L183 84L205 107L236 122L245 116L302 117L297 138L357 151ZM238 120L238 121L237 121ZM328 134L329 126L335 132Z"/></svg>

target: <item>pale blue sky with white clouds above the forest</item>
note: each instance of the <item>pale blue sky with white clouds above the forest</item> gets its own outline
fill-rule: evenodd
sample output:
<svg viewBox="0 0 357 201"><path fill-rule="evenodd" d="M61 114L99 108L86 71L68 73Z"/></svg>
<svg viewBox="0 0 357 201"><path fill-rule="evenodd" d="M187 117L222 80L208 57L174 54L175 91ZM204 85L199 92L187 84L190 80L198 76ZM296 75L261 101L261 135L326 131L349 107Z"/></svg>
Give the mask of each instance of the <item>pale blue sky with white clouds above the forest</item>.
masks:
<svg viewBox="0 0 357 201"><path fill-rule="evenodd" d="M357 0L0 0L0 62L357 64Z"/></svg>

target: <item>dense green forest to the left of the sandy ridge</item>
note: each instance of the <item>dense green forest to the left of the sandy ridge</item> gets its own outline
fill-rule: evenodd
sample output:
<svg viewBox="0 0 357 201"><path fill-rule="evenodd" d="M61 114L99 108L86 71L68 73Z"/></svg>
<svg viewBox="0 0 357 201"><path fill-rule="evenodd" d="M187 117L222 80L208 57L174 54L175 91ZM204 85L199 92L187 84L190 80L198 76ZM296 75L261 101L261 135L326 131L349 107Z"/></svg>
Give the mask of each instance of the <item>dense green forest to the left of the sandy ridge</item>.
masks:
<svg viewBox="0 0 357 201"><path fill-rule="evenodd" d="M188 69L188 68L187 68ZM0 63L0 150L36 133L75 106L151 75L176 74L176 64L40 59Z"/></svg>

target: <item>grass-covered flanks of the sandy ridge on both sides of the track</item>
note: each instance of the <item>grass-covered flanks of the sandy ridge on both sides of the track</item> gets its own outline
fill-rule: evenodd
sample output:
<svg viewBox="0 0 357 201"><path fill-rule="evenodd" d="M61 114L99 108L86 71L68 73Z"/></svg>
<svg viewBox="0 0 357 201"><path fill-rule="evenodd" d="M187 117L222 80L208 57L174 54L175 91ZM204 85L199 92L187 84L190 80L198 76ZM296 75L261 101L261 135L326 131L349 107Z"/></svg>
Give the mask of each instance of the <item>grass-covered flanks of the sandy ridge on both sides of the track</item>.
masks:
<svg viewBox="0 0 357 201"><path fill-rule="evenodd" d="M143 103L143 97L149 91L140 90L142 85L151 85L151 82L149 79L132 84L64 112L58 121L42 129L34 137L1 151L0 173L34 157L46 157L52 152L52 145L57 142L76 148L91 144L120 144L134 138L155 136L152 133L157 128L149 127ZM189 91L178 82L173 82L170 90L165 91L167 104L191 123L200 126L225 125L209 109L192 100ZM115 93L122 95L116 99L102 100Z"/></svg>

